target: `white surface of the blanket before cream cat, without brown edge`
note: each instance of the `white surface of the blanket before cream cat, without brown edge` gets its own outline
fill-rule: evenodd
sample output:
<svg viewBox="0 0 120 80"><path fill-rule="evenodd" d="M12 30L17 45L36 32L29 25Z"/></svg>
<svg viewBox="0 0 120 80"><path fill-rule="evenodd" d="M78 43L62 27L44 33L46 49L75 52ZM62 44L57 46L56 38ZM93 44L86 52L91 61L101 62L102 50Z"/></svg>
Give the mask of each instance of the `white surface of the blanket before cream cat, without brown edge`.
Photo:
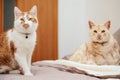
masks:
<svg viewBox="0 0 120 80"><path fill-rule="evenodd" d="M91 74L94 76L120 75L120 66L116 66L116 65L102 65L102 66L88 65L88 64L80 64L80 63L69 61L69 60L63 60L63 59L45 60L43 62L75 67L79 70L83 70L88 74Z"/></svg>

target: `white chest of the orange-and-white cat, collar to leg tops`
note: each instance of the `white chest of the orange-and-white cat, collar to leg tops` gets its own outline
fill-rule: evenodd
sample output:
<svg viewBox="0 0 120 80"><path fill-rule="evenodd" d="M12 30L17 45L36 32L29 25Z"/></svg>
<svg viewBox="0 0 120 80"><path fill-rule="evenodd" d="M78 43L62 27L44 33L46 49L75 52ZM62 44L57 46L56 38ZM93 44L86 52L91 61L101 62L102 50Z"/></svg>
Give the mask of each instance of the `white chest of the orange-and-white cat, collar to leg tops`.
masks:
<svg viewBox="0 0 120 80"><path fill-rule="evenodd" d="M34 50L36 43L36 32L26 35L15 30L9 30L7 32L7 37L8 43L12 41L18 53L23 52L29 54L29 52L32 53L32 51Z"/></svg>

